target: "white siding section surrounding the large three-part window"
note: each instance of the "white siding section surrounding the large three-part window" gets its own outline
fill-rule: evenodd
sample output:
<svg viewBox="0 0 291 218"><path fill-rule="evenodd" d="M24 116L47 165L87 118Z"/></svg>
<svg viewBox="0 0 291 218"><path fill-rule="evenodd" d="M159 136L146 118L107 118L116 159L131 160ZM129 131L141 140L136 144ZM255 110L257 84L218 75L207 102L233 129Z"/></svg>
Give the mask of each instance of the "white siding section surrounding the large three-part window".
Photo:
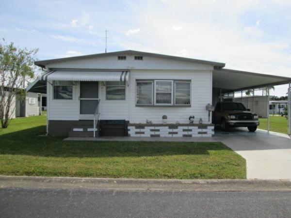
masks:
<svg viewBox="0 0 291 218"><path fill-rule="evenodd" d="M205 109L211 104L212 72L189 70L131 70L129 96L129 122L146 123L146 119L153 123L162 123L162 115L167 115L168 123L189 123L189 116L195 116L194 123L202 118L203 123L208 122L208 111ZM136 105L136 82L143 80L173 80L191 81L191 105L189 107L175 106L144 106ZM136 81L137 80L137 81Z"/></svg>

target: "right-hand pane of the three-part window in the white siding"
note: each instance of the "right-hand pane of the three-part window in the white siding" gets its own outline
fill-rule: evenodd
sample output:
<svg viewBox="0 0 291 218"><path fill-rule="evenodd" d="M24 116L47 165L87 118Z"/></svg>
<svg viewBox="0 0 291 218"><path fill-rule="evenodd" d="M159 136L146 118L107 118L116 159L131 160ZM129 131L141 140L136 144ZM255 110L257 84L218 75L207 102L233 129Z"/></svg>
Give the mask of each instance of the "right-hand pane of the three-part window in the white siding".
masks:
<svg viewBox="0 0 291 218"><path fill-rule="evenodd" d="M190 105L190 82L175 82L175 105Z"/></svg>

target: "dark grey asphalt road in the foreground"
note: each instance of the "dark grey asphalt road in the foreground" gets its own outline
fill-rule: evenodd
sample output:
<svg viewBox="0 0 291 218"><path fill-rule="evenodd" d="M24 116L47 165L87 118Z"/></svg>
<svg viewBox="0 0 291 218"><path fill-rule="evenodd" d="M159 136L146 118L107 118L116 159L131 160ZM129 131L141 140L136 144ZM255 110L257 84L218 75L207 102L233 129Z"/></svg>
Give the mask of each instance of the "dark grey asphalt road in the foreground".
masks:
<svg viewBox="0 0 291 218"><path fill-rule="evenodd" d="M0 217L291 217L291 191L1 188Z"/></svg>

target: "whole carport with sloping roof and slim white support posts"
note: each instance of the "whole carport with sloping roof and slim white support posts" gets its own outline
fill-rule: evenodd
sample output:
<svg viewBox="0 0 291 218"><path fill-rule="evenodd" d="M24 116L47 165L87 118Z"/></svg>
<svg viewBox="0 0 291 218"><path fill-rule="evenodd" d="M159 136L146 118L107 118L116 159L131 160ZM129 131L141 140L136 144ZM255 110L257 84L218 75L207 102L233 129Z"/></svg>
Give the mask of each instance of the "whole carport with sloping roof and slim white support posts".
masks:
<svg viewBox="0 0 291 218"><path fill-rule="evenodd" d="M234 97L235 93L252 90L267 90L267 118L268 131L270 131L270 113L269 113L269 87L275 85L289 84L288 90L288 134L291 135L291 78L280 77L253 72L216 68L212 75L212 105L221 101L223 96ZM253 101L253 109L255 108Z"/></svg>

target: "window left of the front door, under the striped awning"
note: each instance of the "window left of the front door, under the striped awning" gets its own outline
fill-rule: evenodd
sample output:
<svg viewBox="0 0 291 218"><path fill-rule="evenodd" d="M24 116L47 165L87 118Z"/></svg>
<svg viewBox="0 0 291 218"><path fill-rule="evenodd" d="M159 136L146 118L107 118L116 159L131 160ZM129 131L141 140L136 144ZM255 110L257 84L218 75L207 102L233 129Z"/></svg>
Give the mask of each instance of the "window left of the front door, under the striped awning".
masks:
<svg viewBox="0 0 291 218"><path fill-rule="evenodd" d="M53 81L53 99L72 100L72 81Z"/></svg>

